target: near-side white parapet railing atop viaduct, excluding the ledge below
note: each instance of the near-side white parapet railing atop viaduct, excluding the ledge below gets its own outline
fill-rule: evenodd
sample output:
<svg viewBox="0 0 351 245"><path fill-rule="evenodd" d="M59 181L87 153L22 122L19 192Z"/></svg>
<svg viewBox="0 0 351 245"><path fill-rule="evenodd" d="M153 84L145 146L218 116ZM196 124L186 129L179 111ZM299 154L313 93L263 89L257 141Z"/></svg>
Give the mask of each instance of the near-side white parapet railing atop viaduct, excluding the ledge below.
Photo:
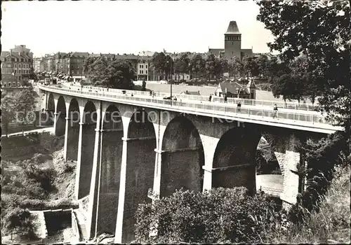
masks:
<svg viewBox="0 0 351 245"><path fill-rule="evenodd" d="M121 99L125 101L132 101L132 102L143 102L143 103L148 103L148 104L163 104L166 106L172 106L173 107L178 107L178 108L183 108L183 109L192 109L193 111L208 111L214 114L221 114L221 113L230 113L230 114L235 114L235 115L247 115L247 116L259 116L260 118L276 118L277 120L282 119L282 120L293 120L293 121L303 121L307 123L326 123L324 116L319 116L319 115L311 115L311 114L306 114L306 113L296 113L296 112L284 112L284 111L277 111L274 112L273 110L267 110L267 109L259 109L259 108L237 108L234 106L227 106L227 104L223 103L223 105L218 105L218 104L208 104L208 103L202 103L202 102L180 102L180 101L172 101L169 99L160 99L154 97L135 97L135 96L130 96L126 94L111 94L108 92L86 92L86 91L81 91L81 90L68 90L65 88L60 88L60 87L47 87L47 86L41 86L41 89L48 90L48 91L62 91L62 92L70 92L70 93L77 93L77 94L87 94L91 95L93 97L110 97L114 99ZM228 114L228 116L230 116ZM224 115L225 116L225 115Z"/></svg>

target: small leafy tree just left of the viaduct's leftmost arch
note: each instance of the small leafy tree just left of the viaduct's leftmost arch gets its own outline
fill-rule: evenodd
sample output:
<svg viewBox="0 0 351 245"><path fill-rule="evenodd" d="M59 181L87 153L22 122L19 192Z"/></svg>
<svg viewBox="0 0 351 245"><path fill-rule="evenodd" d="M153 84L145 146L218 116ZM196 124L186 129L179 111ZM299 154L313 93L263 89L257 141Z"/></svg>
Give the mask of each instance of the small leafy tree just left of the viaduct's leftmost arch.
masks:
<svg viewBox="0 0 351 245"><path fill-rule="evenodd" d="M16 119L23 125L34 123L35 119L35 92L32 86L29 86L16 94L15 96L15 112ZM22 132L24 129L22 128Z"/></svg>

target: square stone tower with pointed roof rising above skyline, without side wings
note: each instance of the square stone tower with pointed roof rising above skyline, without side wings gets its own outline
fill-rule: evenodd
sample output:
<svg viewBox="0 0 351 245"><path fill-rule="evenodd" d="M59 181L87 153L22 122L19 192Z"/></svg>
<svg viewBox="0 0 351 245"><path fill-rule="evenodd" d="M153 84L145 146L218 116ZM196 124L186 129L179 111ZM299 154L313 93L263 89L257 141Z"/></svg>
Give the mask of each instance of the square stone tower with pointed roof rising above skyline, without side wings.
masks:
<svg viewBox="0 0 351 245"><path fill-rule="evenodd" d="M234 56L241 60L241 33L237 22L233 20L229 23L227 32L224 34L224 55L228 60Z"/></svg>

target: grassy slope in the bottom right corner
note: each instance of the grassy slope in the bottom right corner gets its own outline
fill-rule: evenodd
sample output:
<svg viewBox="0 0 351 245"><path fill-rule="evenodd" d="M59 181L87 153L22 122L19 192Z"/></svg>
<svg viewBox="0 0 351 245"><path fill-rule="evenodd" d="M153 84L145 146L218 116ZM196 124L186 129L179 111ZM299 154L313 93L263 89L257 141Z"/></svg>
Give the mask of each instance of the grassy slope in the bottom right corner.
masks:
<svg viewBox="0 0 351 245"><path fill-rule="evenodd" d="M350 166L336 168L336 178L324 197L319 213L313 212L305 228L292 225L272 234L269 243L350 244Z"/></svg>

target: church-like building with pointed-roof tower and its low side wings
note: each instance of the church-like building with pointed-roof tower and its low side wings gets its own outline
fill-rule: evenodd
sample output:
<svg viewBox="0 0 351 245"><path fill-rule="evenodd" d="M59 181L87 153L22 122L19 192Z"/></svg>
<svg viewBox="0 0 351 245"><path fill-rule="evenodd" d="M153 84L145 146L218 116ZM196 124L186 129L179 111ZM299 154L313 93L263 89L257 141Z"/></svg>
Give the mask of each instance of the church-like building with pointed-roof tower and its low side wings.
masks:
<svg viewBox="0 0 351 245"><path fill-rule="evenodd" d="M217 57L225 57L228 60L232 59L232 57L238 57L241 60L244 55L253 56L252 48L241 48L241 33L236 21L229 23L228 29L224 34L224 49L208 48L208 52Z"/></svg>

